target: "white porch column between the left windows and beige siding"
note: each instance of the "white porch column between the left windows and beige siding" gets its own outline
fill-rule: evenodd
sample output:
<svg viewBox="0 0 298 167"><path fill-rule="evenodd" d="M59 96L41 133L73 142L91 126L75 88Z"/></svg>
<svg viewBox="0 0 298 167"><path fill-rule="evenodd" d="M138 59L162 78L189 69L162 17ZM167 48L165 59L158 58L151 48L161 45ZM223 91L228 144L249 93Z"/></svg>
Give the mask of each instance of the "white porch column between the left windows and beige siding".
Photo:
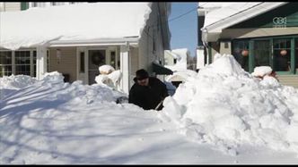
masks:
<svg viewBox="0 0 298 167"><path fill-rule="evenodd" d="M36 52L36 78L43 79L43 75L47 72L47 48L38 46Z"/></svg>

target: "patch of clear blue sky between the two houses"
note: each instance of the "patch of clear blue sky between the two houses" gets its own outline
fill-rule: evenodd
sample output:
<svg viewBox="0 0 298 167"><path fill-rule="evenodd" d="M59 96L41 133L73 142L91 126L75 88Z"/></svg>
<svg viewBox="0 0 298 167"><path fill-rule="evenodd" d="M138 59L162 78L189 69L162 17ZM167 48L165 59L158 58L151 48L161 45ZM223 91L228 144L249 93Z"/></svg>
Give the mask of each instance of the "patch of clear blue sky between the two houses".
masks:
<svg viewBox="0 0 298 167"><path fill-rule="evenodd" d="M171 30L171 49L188 48L191 56L195 56L197 47L197 11L188 11L197 7L193 3L171 3L169 26ZM171 19L188 13L173 21Z"/></svg>

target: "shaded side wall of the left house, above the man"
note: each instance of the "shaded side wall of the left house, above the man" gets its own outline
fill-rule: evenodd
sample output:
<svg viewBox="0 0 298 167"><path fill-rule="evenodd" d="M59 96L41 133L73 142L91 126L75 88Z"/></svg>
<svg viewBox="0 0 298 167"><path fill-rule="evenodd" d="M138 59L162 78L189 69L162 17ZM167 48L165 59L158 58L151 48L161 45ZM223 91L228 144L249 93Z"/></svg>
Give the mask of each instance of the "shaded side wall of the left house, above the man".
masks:
<svg viewBox="0 0 298 167"><path fill-rule="evenodd" d="M153 3L152 13L147 21L145 29L142 32L139 40L139 67L144 68L149 73L152 73L152 63L155 60L163 62L163 44L162 44L162 29L161 22L158 21L158 4ZM158 25L158 26L156 26ZM147 35L147 33L149 35ZM154 34L153 34L154 33ZM155 41L155 51L153 51L153 40Z"/></svg>

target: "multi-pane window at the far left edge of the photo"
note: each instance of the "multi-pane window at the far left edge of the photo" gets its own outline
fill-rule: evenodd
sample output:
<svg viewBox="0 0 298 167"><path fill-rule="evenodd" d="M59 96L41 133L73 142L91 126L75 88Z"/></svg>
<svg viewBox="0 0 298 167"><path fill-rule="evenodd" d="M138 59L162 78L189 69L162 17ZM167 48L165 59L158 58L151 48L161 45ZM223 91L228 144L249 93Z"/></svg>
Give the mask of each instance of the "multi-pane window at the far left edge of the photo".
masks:
<svg viewBox="0 0 298 167"><path fill-rule="evenodd" d="M12 52L0 52L0 77L13 74Z"/></svg>

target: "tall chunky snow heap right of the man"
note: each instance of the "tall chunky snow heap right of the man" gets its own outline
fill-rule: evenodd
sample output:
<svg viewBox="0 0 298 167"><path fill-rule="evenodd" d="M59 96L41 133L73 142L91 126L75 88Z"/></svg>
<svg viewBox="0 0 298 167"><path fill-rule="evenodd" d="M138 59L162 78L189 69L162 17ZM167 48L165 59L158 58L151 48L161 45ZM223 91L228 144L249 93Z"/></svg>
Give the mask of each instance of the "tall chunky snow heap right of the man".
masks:
<svg viewBox="0 0 298 167"><path fill-rule="evenodd" d="M298 153L297 89L254 78L230 54L215 57L164 100L160 117L225 153L237 154L244 144Z"/></svg>

